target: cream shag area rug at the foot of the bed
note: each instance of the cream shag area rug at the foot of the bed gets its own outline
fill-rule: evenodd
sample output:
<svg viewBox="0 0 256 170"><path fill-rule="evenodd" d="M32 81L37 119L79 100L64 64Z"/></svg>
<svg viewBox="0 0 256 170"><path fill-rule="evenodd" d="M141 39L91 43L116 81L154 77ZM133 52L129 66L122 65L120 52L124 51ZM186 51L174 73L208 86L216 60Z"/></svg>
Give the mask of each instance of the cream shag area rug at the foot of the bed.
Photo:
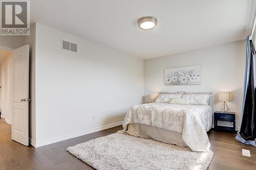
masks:
<svg viewBox="0 0 256 170"><path fill-rule="evenodd" d="M114 133L67 148L95 169L207 169L214 155L154 139Z"/></svg>

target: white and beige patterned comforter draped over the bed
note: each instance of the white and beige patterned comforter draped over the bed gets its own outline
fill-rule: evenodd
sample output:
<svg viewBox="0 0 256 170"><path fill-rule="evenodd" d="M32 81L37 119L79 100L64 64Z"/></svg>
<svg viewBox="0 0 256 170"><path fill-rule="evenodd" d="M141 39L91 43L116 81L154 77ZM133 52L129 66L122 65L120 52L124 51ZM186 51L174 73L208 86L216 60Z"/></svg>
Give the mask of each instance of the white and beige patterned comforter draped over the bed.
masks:
<svg viewBox="0 0 256 170"><path fill-rule="evenodd" d="M182 133L182 139L193 151L206 152L210 142L211 107L205 105L176 105L150 103L132 106L123 120L123 131L128 124L144 124Z"/></svg>

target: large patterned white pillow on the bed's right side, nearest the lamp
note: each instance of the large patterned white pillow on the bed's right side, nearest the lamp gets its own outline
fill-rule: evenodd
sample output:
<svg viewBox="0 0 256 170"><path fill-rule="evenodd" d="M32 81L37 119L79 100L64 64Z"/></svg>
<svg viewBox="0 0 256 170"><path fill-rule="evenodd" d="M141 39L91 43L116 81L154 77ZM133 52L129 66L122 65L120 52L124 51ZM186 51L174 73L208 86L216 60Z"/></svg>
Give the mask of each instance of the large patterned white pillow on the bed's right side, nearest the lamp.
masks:
<svg viewBox="0 0 256 170"><path fill-rule="evenodd" d="M183 94L182 99L189 100L190 105L208 105L210 94Z"/></svg>

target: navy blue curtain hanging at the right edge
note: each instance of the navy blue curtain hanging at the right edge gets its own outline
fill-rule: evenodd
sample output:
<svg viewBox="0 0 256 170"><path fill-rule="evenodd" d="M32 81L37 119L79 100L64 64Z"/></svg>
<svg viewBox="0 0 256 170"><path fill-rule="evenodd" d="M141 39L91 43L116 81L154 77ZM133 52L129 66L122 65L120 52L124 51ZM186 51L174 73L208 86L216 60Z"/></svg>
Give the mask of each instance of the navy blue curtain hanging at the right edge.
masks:
<svg viewBox="0 0 256 170"><path fill-rule="evenodd" d="M242 105L242 123L236 139L243 143L251 144L256 147L256 72L255 72L255 48L249 36L246 38L246 63L244 95Z"/></svg>

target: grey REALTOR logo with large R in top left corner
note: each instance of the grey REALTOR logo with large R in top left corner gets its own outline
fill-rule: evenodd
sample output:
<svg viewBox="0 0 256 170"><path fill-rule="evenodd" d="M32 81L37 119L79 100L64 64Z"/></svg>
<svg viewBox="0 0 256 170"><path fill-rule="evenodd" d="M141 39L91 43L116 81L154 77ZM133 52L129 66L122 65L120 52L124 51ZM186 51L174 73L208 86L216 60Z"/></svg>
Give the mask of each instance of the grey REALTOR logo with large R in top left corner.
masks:
<svg viewBox="0 0 256 170"><path fill-rule="evenodd" d="M1 35L30 35L30 1L0 1Z"/></svg>

